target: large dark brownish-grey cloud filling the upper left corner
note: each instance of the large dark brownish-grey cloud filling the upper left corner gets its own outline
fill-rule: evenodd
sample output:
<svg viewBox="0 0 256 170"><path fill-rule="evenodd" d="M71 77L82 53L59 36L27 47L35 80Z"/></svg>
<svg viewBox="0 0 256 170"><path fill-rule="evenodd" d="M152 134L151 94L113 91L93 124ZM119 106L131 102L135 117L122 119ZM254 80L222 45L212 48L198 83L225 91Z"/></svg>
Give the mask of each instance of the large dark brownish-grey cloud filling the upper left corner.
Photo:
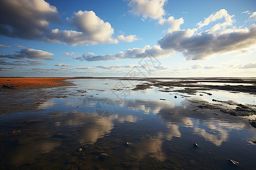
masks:
<svg viewBox="0 0 256 170"><path fill-rule="evenodd" d="M49 22L60 23L55 6L43 0L1 0L0 35L40 39L49 32Z"/></svg>

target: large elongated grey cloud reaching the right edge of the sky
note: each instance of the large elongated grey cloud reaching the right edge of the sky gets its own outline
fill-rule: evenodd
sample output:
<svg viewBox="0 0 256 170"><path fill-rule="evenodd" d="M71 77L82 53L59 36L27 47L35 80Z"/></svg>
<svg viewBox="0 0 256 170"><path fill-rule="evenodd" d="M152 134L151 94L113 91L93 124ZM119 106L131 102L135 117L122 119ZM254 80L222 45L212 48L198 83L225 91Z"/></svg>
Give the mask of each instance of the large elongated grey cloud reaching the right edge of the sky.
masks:
<svg viewBox="0 0 256 170"><path fill-rule="evenodd" d="M182 52L187 60L207 59L214 54L242 50L256 44L256 26L218 33L194 33L192 29L174 31L167 33L158 43L163 49Z"/></svg>

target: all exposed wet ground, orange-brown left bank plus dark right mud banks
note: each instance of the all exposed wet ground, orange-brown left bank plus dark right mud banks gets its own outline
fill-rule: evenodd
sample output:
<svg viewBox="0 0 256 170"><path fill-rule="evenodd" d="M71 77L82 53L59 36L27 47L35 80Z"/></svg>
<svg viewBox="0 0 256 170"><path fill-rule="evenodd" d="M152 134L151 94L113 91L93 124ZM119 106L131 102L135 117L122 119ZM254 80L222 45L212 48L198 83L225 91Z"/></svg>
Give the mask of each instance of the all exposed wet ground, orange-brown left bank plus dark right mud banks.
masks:
<svg viewBox="0 0 256 170"><path fill-rule="evenodd" d="M3 109L1 109L0 114L2 113L11 113L16 111L29 111L31 109L37 109L38 105L43 101L50 99L52 97L67 97L64 92L60 92L61 87L65 86L75 86L72 81L65 81L65 80L72 80L72 79L105 79L105 78L0 78L0 91L7 94L9 97L2 98L0 97L0 105ZM131 80L131 81L138 81L141 80L142 84L137 84L134 87L133 91L138 90L146 90L147 88L158 87L160 88L159 91L162 92L180 92L183 94L195 95L198 91L204 91L203 93L207 95L210 94L209 90L224 90L230 91L233 93L236 92L245 92L249 94L256 95L256 80L241 80L241 79L194 79L194 80L177 80L173 81L160 81L156 79L124 79L124 78L112 78L117 80ZM216 86L216 85L205 85L205 84L198 84L198 83L234 83L235 85L223 85L223 86ZM236 85L236 83L246 84L244 85ZM249 85L247 85L249 84ZM253 85L251 85L253 84ZM52 88L52 87L59 87L56 92L48 93L41 91L41 88ZM174 87L184 87L183 90L172 90ZM113 89L117 91L123 90L122 88ZM40 96L40 97L36 97ZM72 95L72 94L69 94ZM28 102L30 101L30 102ZM224 113L232 114L233 116L249 116L256 114L255 105L242 105L240 103L234 103L226 101L216 101L217 104L208 103L205 101L192 101L193 103L197 103L196 107L205 108L205 109L217 109ZM229 109L225 107L225 104L236 106L236 109Z"/></svg>

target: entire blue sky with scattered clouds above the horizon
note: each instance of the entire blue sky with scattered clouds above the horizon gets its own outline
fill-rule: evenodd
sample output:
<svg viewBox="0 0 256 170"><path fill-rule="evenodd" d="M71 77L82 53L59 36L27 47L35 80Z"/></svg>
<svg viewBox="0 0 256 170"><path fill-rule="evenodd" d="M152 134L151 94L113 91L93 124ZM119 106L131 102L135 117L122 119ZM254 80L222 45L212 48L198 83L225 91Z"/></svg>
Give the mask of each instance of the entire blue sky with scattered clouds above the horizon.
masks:
<svg viewBox="0 0 256 170"><path fill-rule="evenodd" d="M255 0L1 0L0 76L255 77L255 23Z"/></svg>

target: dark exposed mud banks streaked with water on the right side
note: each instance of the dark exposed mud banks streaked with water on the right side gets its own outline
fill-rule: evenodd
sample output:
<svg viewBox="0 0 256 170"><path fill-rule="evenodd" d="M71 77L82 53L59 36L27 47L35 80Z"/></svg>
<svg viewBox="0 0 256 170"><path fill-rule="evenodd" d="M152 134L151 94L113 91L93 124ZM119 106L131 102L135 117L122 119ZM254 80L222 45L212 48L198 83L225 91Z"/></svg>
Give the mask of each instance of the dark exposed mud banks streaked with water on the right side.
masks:
<svg viewBox="0 0 256 170"><path fill-rule="evenodd" d="M146 80L146 79L141 79ZM199 84L200 83L200 84ZM222 85L202 84L202 83L224 83ZM232 83L225 84L225 83ZM243 85L241 85L243 84ZM247 93L256 95L256 80L239 80L239 79L195 79L195 80L177 80L177 81L148 81L148 83L138 84L133 90L146 90L147 88L158 87L161 92L174 93L179 92L182 94L196 95L197 92L212 96L208 91L221 90L231 93ZM180 90L172 90L173 88L183 88ZM200 96L203 96L200 94ZM190 100L196 107L202 109L218 110L223 113L228 113L233 116L251 116L256 114L256 105L253 104L240 104L236 101L228 100L221 101L213 99L213 102L204 100ZM195 104L196 103L196 104Z"/></svg>

